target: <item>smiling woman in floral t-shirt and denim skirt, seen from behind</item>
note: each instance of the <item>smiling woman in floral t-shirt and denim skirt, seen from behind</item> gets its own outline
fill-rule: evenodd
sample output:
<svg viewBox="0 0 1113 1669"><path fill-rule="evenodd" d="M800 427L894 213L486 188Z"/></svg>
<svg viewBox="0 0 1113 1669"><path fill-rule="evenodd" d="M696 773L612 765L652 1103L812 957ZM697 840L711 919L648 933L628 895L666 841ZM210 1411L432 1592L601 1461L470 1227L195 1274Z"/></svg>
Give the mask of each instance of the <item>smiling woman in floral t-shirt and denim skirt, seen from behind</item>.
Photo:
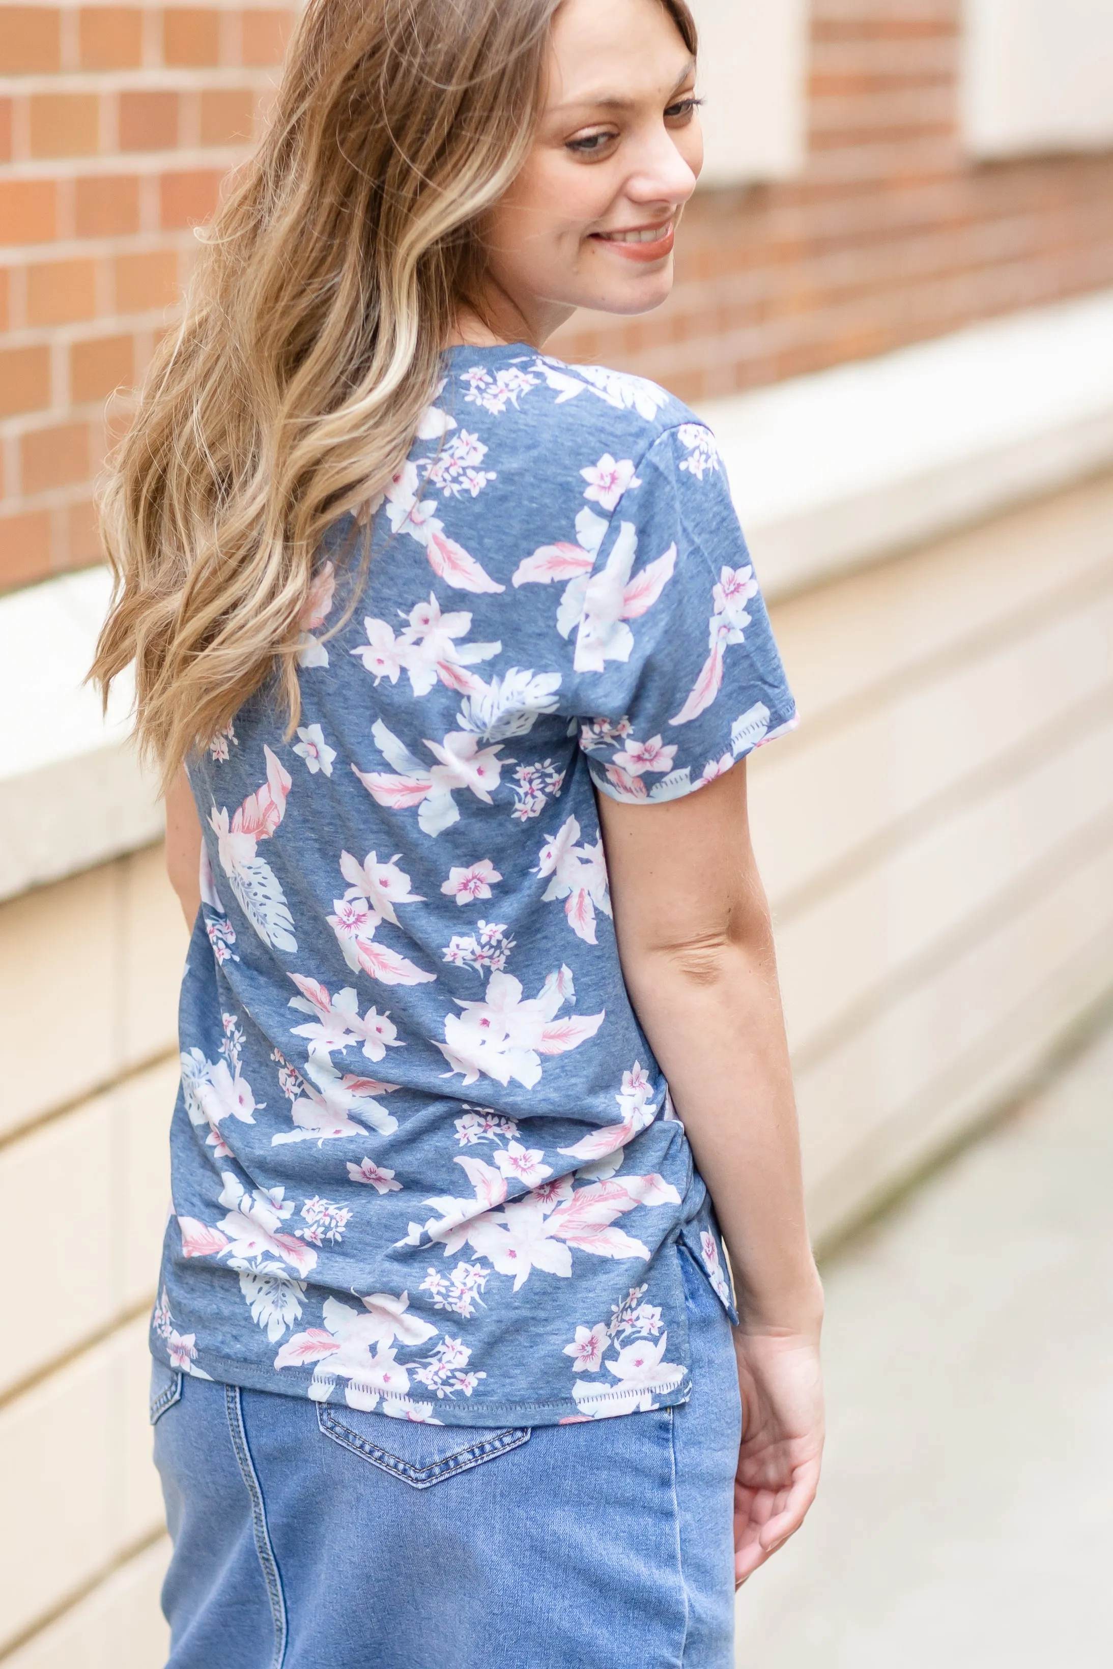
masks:
<svg viewBox="0 0 1113 1669"><path fill-rule="evenodd" d="M314 0L108 487L192 925L175 1669L719 1669L814 1494L743 763L793 703L711 434L542 352L667 295L694 53L684 0Z"/></svg>

